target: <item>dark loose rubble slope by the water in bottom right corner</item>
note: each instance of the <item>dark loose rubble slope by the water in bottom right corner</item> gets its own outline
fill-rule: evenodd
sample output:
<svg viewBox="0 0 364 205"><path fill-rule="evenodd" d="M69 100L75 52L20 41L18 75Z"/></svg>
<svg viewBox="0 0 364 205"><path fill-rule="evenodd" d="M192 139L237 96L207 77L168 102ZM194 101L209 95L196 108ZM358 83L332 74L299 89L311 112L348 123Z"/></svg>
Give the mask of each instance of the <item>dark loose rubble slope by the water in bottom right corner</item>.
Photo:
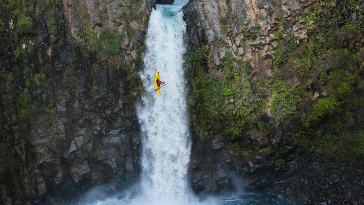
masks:
<svg viewBox="0 0 364 205"><path fill-rule="evenodd" d="M363 203L363 199L359 197L360 191L353 191L363 190L354 180L362 175L363 171L356 170L353 173L348 169L334 167L335 165L325 161L308 162L302 171L286 180L276 181L275 184L269 185L268 190L273 193L284 193L294 200L310 200L314 204L323 202L338 204L343 201L352 201L353 204ZM346 178L351 179L345 182ZM288 187L294 188L295 191L289 192Z"/></svg>

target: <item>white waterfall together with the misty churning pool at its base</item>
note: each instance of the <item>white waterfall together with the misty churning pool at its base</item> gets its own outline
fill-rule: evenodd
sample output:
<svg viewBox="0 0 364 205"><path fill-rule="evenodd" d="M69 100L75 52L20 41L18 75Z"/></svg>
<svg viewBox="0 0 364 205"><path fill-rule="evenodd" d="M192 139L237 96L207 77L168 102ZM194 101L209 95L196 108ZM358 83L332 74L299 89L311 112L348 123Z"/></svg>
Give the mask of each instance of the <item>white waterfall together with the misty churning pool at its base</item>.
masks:
<svg viewBox="0 0 364 205"><path fill-rule="evenodd" d="M237 193L219 197L197 197L190 193L187 169L191 139L185 96L186 52L182 7L188 0L175 0L173 5L157 5L151 12L144 67L141 79L144 91L137 104L141 123L141 183L115 196L104 194L101 186L91 190L78 205L215 205L215 204L292 204L269 193ZM169 83L155 92L154 77Z"/></svg>

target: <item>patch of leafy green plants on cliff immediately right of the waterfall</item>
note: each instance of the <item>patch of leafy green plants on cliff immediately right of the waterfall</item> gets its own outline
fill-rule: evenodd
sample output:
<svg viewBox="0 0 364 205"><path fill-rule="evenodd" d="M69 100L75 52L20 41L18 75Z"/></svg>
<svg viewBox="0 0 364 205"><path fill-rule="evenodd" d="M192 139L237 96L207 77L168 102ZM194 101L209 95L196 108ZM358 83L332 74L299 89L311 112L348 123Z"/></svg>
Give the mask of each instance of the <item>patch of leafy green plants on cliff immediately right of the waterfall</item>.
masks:
<svg viewBox="0 0 364 205"><path fill-rule="evenodd" d="M237 101L247 98L246 89L250 88L246 76L240 76L236 70L236 65L242 65L242 62L236 62L230 54L217 73L212 74L206 73L203 67L209 58L206 51L197 49L189 57L191 69L195 71L193 119L205 128L201 137L209 137L213 130L241 135L244 124L251 121L249 110L243 102Z"/></svg>

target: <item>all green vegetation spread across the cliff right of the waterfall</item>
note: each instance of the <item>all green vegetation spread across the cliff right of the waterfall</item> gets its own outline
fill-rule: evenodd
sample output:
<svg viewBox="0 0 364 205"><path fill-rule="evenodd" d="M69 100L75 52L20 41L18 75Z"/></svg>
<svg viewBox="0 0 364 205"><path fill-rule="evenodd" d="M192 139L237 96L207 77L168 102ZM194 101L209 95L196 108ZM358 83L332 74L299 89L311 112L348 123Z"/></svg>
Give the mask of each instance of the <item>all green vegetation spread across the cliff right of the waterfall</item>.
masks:
<svg viewBox="0 0 364 205"><path fill-rule="evenodd" d="M364 109L360 97L364 93L364 78L359 59L363 59L360 53L364 34L363 6L358 0L314 2L297 19L308 30L307 40L297 40L293 31L284 33L286 31L280 28L289 23L281 16L275 24L278 29L272 31L277 40L272 42L274 57L268 57L269 63L267 58L261 59L259 50L263 48L254 47L257 35L263 35L266 30L256 24L258 26L251 28L252 33L241 29L241 33L236 34L230 24L236 23L237 16L222 14L222 32L230 36L232 42L236 37L233 35L244 34L244 42L235 46L242 46L244 51L252 49L256 72L250 69L251 61L240 61L229 54L220 59L219 66L214 65L211 62L214 47L222 47L218 45L221 39L217 35L213 43L188 54L192 61L190 69L194 71L190 78L195 82L192 123L199 125L200 137L222 134L227 149L235 150L244 158L254 157L257 152L253 148L257 146L246 143L246 133L257 128L262 135L270 134L271 129L274 131L281 124L288 133L282 133L282 140L274 144L268 165L283 168L286 160L297 160L299 164L308 155L352 165L357 164L355 160L362 162L364 126L359 116ZM273 11L281 5L273 8L268 8L268 15L274 15ZM220 44L225 50L234 46L227 40L221 40ZM259 73L266 67L271 72ZM267 138L272 143L276 139L270 136ZM227 139L235 141L230 143ZM291 146L287 150L286 147ZM264 145L261 149L271 147ZM345 154L351 156L347 161L340 160Z"/></svg>

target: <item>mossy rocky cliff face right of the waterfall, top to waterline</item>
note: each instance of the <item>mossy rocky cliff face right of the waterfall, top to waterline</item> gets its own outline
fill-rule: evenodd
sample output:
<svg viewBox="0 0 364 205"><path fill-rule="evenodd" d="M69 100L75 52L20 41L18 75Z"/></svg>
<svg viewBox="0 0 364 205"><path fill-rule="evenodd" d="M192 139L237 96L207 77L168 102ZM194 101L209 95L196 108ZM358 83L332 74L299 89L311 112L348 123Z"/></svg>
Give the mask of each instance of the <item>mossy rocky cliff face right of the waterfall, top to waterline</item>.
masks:
<svg viewBox="0 0 364 205"><path fill-rule="evenodd" d="M292 199L363 202L363 7L314 0L185 5L197 192L270 184ZM312 169L300 172L304 167ZM334 179L353 169L347 181L355 194Z"/></svg>

